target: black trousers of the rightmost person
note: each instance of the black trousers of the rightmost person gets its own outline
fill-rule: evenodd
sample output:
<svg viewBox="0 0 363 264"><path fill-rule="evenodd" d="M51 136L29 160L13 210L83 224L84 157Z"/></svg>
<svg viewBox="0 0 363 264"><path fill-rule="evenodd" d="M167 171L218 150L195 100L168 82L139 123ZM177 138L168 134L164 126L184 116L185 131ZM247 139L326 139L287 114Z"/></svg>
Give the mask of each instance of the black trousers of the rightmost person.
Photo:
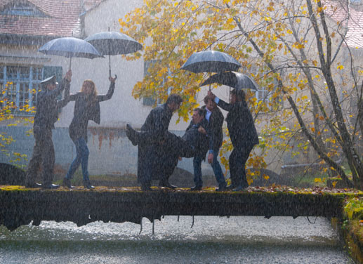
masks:
<svg viewBox="0 0 363 264"><path fill-rule="evenodd" d="M253 146L245 146L234 148L230 154L230 178L232 185L237 187L242 185L242 187L248 187L246 179L246 161L249 159L249 154Z"/></svg>

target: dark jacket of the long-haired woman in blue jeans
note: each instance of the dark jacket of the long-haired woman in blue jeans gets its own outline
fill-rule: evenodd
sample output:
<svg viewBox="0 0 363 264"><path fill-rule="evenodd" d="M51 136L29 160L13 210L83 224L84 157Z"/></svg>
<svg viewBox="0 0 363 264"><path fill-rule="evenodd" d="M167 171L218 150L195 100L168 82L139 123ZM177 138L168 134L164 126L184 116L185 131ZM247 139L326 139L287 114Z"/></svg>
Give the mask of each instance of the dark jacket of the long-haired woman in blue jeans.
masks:
<svg viewBox="0 0 363 264"><path fill-rule="evenodd" d="M74 115L70 124L70 137L72 140L84 138L87 140L87 127L88 120L95 121L100 124L100 102L109 100L114 94L114 83L111 82L106 95L97 95L93 97L86 95L86 93L76 93L70 95L65 94L65 100L75 101Z"/></svg>

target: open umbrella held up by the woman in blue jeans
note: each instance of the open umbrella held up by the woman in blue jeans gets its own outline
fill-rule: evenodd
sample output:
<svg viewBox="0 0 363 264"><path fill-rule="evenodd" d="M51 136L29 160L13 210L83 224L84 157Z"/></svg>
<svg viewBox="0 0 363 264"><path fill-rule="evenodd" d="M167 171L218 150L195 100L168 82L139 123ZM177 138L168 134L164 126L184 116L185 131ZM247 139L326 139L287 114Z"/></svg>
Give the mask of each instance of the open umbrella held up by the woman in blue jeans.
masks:
<svg viewBox="0 0 363 264"><path fill-rule="evenodd" d="M99 32L84 40L95 46L102 55L109 55L110 76L111 55L133 53L143 48L138 41L119 32Z"/></svg>

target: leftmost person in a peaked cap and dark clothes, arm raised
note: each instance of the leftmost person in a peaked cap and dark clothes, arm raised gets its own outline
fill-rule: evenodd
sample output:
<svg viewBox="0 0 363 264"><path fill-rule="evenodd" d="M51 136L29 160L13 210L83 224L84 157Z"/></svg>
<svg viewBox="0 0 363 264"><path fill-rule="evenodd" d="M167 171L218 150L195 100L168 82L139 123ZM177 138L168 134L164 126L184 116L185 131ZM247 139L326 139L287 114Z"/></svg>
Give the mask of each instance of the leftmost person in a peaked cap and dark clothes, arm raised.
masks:
<svg viewBox="0 0 363 264"><path fill-rule="evenodd" d="M52 140L54 123L58 120L61 107L67 105L66 100L57 100L58 95L65 89L70 89L72 72L69 70L60 85L55 81L55 76L41 81L41 91L37 96L37 112L34 117L33 133L35 145L30 159L25 178L26 187L42 187L56 189L59 185L52 184L55 153ZM42 183L35 183L39 166L42 164Z"/></svg>

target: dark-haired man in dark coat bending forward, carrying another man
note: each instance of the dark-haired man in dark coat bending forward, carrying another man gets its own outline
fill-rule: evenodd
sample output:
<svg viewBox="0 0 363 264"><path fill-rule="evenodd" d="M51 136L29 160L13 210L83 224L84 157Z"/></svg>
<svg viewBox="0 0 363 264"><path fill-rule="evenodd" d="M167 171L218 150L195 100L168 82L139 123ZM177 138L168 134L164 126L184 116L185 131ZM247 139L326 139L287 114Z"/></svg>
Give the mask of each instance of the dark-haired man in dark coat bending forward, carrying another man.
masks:
<svg viewBox="0 0 363 264"><path fill-rule="evenodd" d="M147 138L147 140L138 142L137 138L130 134L132 132L131 126L126 126L126 135L131 143L138 145L138 182L142 190L151 190L150 186L153 178L159 178L159 186L175 188L169 183L167 176L157 175L157 167L160 162L164 162L160 160L160 157L165 152L165 140L170 119L182 102L183 99L180 95L171 94L164 105L159 105L151 110L141 127L144 138Z"/></svg>

